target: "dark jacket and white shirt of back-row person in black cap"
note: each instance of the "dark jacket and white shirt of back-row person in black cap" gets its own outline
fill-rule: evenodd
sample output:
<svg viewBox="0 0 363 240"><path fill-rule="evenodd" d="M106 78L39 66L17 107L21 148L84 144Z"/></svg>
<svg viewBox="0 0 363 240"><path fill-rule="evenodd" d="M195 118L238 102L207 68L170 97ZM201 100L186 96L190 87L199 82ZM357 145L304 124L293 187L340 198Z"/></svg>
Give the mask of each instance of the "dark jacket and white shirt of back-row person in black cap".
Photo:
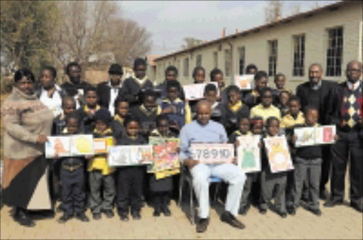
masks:
<svg viewBox="0 0 363 240"><path fill-rule="evenodd" d="M99 104L110 111L111 116L115 115L115 100L121 93L122 82L118 86L113 86L111 81L101 82L97 85L97 95Z"/></svg>

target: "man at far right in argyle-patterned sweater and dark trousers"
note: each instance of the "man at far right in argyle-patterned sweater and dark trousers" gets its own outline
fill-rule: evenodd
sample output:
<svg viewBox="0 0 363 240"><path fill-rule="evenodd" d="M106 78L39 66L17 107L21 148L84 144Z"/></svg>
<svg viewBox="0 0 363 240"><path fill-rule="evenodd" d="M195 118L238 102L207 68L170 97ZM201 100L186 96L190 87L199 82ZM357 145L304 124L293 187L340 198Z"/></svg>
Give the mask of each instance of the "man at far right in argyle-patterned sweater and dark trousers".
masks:
<svg viewBox="0 0 363 240"><path fill-rule="evenodd" d="M325 207L342 204L345 193L345 170L350 160L350 206L362 212L363 185L363 94L362 62L347 64L347 81L337 86L337 94L329 105L334 112L330 122L337 126L337 141L332 149L332 177L330 180L330 199Z"/></svg>

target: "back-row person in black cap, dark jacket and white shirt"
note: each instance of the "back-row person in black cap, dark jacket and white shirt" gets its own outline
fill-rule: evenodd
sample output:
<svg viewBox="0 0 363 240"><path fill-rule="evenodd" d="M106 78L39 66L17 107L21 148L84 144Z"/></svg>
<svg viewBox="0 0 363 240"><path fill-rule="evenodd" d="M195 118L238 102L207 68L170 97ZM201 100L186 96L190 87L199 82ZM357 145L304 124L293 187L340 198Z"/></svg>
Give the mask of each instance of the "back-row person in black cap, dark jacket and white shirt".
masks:
<svg viewBox="0 0 363 240"><path fill-rule="evenodd" d="M115 114L114 103L116 98L121 92L123 75L122 66L114 63L108 69L110 80L107 82L101 82L97 85L97 95L99 96L99 104L110 111L111 115Z"/></svg>

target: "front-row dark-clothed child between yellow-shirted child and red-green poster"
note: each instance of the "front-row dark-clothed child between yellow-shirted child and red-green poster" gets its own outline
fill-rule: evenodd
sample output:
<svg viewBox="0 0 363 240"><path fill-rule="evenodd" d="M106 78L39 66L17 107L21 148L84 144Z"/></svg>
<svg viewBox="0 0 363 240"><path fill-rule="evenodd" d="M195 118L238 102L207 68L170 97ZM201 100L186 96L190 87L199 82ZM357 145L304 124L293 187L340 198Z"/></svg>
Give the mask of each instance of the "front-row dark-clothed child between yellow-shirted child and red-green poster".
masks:
<svg viewBox="0 0 363 240"><path fill-rule="evenodd" d="M139 134L140 121L133 115L125 118L125 133L116 138L117 145L143 145L147 141ZM125 166L117 168L116 204L118 214L123 222L128 222L128 213L131 209L133 219L141 219L143 204L143 180L145 167L143 165Z"/></svg>

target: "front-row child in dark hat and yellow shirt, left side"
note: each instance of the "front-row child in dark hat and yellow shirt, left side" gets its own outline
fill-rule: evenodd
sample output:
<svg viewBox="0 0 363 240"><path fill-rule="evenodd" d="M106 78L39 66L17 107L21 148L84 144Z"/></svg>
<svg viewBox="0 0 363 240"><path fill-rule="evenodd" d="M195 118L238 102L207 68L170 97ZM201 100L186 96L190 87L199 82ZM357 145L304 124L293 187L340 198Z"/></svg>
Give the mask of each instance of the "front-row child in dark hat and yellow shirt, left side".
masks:
<svg viewBox="0 0 363 240"><path fill-rule="evenodd" d="M110 128L111 114L108 109L101 108L94 114L95 128L94 138L112 137ZM106 153L97 153L89 161L89 207L95 220L101 219L101 212L106 217L113 217L113 199L116 195L115 180L113 179L114 168L108 166ZM103 194L101 197L101 187Z"/></svg>

